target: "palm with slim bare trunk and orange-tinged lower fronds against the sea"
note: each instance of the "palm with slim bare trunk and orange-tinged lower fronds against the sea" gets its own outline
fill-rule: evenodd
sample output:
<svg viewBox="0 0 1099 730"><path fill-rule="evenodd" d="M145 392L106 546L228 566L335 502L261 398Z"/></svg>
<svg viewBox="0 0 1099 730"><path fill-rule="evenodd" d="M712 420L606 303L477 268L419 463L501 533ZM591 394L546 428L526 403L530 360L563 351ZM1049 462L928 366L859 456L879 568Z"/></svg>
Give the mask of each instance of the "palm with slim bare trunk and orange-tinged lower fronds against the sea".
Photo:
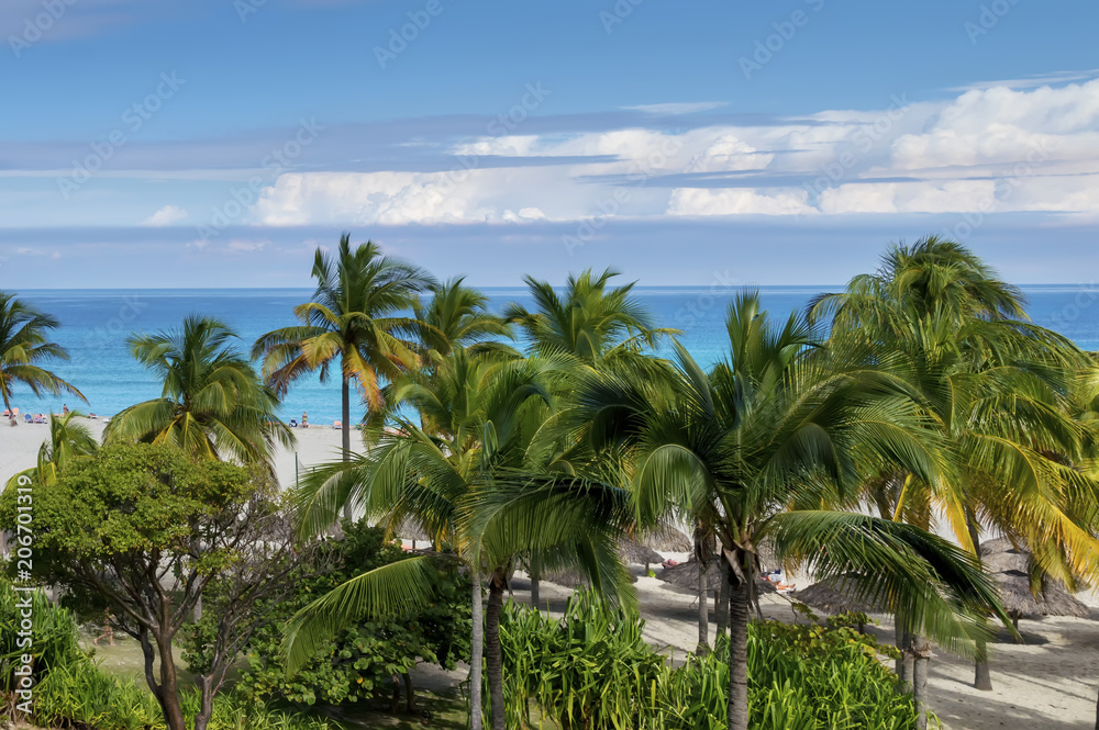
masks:
<svg viewBox="0 0 1099 730"><path fill-rule="evenodd" d="M382 405L384 381L419 364L411 338L424 326L400 313L411 313L417 294L434 282L419 267L382 256L370 242L352 250L346 233L335 258L317 249L312 277L317 280L313 300L293 310L301 324L260 336L252 357L264 358L264 378L279 397L314 371L326 382L332 363L338 360L343 457L348 461L351 382L355 381L367 408L376 411Z"/></svg>

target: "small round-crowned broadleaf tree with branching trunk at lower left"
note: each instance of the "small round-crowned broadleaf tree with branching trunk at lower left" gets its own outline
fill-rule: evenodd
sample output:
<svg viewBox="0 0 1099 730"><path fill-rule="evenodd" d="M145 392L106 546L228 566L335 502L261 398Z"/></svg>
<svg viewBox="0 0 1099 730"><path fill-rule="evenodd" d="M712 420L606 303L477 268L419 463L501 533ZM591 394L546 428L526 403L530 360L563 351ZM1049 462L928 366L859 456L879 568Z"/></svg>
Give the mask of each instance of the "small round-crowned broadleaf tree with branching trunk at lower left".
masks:
<svg viewBox="0 0 1099 730"><path fill-rule="evenodd" d="M80 613L109 610L136 639L168 730L189 730L173 645L206 593L217 615L197 637L191 670L203 730L229 665L292 587L299 552L270 482L242 467L195 461L163 445L119 445L34 487L34 570ZM0 498L13 524L15 493ZM155 672L159 661L159 672Z"/></svg>

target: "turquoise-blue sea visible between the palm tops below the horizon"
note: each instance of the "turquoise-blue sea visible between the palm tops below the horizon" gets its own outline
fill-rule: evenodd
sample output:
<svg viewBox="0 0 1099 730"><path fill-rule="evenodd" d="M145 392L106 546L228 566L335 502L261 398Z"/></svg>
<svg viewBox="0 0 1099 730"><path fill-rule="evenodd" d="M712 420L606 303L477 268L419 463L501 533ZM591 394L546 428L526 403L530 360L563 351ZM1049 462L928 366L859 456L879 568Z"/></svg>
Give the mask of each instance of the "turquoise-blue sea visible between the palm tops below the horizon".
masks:
<svg viewBox="0 0 1099 730"><path fill-rule="evenodd" d="M840 287L764 287L761 295L773 317L785 318L822 291ZM1056 329L1085 349L1099 350L1099 289L1094 285L1029 285L1026 293L1035 324ZM484 290L493 310L509 302L531 306L525 289ZM724 312L735 292L728 289L646 287L634 290L662 327L681 329L681 341L700 363L723 357ZM158 290L26 290L21 297L60 319L55 339L70 355L52 367L88 397L35 398L16 386L14 404L23 413L58 413L62 405L109 416L141 401L158 397L160 386L130 356L125 345L132 332L177 327L187 314L217 316L241 336L248 350L265 332L296 324L291 308L309 300L310 289L158 289ZM337 381L315 378L290 391L281 416L300 418L309 412L313 424L340 416Z"/></svg>

